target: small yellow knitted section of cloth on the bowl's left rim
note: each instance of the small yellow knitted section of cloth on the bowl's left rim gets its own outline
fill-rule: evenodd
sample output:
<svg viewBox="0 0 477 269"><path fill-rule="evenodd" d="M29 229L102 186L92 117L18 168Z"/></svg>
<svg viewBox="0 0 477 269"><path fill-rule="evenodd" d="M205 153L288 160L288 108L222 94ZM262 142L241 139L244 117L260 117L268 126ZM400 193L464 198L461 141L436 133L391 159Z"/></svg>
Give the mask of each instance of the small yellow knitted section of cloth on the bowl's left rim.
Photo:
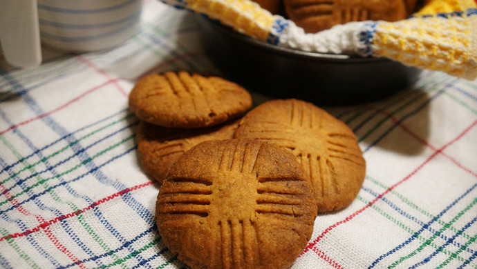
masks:
<svg viewBox="0 0 477 269"><path fill-rule="evenodd" d="M273 15L252 1L241 0L189 0L192 10L218 19L226 26L250 37L265 41L272 23Z"/></svg>

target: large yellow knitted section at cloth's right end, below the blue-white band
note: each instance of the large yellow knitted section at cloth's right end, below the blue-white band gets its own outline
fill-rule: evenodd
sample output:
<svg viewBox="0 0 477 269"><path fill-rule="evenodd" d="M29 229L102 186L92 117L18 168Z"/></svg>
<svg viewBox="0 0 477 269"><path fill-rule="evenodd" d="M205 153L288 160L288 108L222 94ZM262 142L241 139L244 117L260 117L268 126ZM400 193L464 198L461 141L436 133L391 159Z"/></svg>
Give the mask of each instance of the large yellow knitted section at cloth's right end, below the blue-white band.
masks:
<svg viewBox="0 0 477 269"><path fill-rule="evenodd" d="M376 54L409 66L477 77L477 16L415 17L377 25Z"/></svg>

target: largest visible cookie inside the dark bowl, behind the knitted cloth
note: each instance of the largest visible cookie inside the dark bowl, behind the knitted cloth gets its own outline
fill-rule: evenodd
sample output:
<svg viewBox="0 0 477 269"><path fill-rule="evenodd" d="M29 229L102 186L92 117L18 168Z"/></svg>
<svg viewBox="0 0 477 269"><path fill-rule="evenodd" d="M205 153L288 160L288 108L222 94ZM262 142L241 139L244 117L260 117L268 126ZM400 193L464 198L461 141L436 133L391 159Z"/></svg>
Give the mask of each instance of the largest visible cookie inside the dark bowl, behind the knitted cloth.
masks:
<svg viewBox="0 0 477 269"><path fill-rule="evenodd" d="M407 17L405 0L283 0L288 17L319 32L350 21L398 21Z"/></svg>

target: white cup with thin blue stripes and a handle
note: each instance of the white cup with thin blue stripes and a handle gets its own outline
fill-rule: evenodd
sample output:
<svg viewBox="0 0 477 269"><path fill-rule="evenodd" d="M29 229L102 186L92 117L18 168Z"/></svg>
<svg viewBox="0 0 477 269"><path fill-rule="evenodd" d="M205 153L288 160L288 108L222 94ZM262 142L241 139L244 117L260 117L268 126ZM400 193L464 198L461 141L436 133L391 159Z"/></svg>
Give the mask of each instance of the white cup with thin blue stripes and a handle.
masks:
<svg viewBox="0 0 477 269"><path fill-rule="evenodd" d="M64 51L117 46L138 28L142 0L0 0L0 43L13 66L41 63L40 43Z"/></svg>

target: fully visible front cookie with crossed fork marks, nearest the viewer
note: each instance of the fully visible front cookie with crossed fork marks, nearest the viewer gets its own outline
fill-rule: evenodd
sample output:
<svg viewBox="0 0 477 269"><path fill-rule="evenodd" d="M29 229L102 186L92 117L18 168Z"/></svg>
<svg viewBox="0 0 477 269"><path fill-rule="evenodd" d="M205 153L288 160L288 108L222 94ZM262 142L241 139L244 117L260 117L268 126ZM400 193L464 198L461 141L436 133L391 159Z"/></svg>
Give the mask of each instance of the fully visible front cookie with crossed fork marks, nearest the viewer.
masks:
<svg viewBox="0 0 477 269"><path fill-rule="evenodd" d="M162 240L191 268L288 268L316 217L294 156L256 139L194 146L171 166L156 203Z"/></svg>

